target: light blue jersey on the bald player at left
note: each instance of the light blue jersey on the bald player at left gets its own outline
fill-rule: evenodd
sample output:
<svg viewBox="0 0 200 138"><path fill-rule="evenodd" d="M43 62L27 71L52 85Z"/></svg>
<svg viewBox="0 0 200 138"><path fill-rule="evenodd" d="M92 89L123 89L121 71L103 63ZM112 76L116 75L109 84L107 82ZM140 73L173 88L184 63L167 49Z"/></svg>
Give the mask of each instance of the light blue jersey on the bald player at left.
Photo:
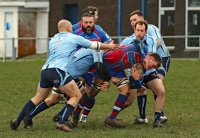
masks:
<svg viewBox="0 0 200 138"><path fill-rule="evenodd" d="M92 42L69 32L55 34L49 41L49 55L42 70L46 68L59 68L67 72L68 58L78 47L90 48Z"/></svg>

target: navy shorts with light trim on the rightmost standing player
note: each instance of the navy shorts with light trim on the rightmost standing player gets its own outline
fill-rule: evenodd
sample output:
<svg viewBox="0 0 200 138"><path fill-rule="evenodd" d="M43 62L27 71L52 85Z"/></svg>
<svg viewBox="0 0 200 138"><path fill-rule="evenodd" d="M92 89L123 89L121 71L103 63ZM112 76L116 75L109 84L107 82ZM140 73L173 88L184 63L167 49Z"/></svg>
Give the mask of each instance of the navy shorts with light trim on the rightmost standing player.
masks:
<svg viewBox="0 0 200 138"><path fill-rule="evenodd" d="M170 57L163 57L162 58L162 64L161 66L157 69L157 73L163 75L164 77L166 76L168 70L170 67Z"/></svg>

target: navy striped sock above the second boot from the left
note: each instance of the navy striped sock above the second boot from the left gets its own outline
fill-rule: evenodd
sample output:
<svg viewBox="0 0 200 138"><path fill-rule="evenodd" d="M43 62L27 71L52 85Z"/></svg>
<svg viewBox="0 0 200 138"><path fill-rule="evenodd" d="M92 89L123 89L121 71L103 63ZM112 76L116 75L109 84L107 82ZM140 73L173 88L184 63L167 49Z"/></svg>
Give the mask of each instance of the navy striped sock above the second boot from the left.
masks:
<svg viewBox="0 0 200 138"><path fill-rule="evenodd" d="M27 118L33 118L34 116L36 116L37 114L39 114L40 112L48 109L49 106L46 104L45 101L43 101L42 103L40 103L38 106L36 106L34 109L32 109L27 115Z"/></svg>

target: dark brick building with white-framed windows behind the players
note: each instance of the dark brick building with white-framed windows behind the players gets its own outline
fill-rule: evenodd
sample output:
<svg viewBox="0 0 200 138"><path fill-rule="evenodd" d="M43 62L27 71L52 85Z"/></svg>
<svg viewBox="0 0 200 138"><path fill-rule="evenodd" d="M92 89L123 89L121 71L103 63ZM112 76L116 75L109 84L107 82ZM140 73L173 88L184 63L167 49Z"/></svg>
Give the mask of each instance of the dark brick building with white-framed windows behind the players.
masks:
<svg viewBox="0 0 200 138"><path fill-rule="evenodd" d="M81 11L90 5L99 10L97 24L110 36L117 36L119 1L122 7L121 36L133 33L129 14L136 9L142 10L144 1L146 20L160 28L172 57L199 57L199 0L50 0L49 36L57 32L56 25L60 19L65 18L76 23L80 20Z"/></svg>

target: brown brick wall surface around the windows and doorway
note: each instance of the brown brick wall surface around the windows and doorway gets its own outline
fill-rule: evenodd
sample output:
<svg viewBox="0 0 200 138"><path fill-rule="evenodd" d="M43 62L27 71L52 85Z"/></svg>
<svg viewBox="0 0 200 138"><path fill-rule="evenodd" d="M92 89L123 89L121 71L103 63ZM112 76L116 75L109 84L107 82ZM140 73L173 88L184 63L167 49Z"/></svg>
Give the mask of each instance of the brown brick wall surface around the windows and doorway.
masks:
<svg viewBox="0 0 200 138"><path fill-rule="evenodd" d="M176 0L175 7L175 35L185 34L185 0ZM129 14L137 9L141 10L142 1L122 0L122 36L133 33L130 26ZM118 35L118 0L50 0L49 36L57 33L57 22L63 19L64 4L78 4L78 16L87 6L96 6L99 9L99 24L110 36ZM146 20L158 26L158 0L146 1ZM185 39L175 39L175 50L170 52L172 57L198 57L198 51L185 50Z"/></svg>

